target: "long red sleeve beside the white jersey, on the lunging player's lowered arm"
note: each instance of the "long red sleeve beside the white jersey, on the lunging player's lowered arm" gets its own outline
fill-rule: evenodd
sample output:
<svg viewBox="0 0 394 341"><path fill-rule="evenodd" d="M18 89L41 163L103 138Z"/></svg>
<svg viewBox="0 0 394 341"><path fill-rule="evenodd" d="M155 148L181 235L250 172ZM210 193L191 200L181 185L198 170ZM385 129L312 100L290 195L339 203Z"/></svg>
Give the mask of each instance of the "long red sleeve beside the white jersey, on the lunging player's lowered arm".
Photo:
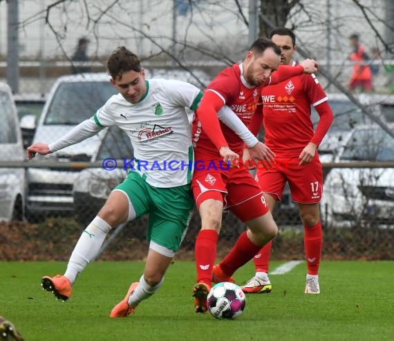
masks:
<svg viewBox="0 0 394 341"><path fill-rule="evenodd" d="M196 110L196 116L201 123L201 128L207 137L218 148L228 146L222 133L221 125L218 120L218 111L223 107L223 99L218 97L215 92L205 91L200 106Z"/></svg>

